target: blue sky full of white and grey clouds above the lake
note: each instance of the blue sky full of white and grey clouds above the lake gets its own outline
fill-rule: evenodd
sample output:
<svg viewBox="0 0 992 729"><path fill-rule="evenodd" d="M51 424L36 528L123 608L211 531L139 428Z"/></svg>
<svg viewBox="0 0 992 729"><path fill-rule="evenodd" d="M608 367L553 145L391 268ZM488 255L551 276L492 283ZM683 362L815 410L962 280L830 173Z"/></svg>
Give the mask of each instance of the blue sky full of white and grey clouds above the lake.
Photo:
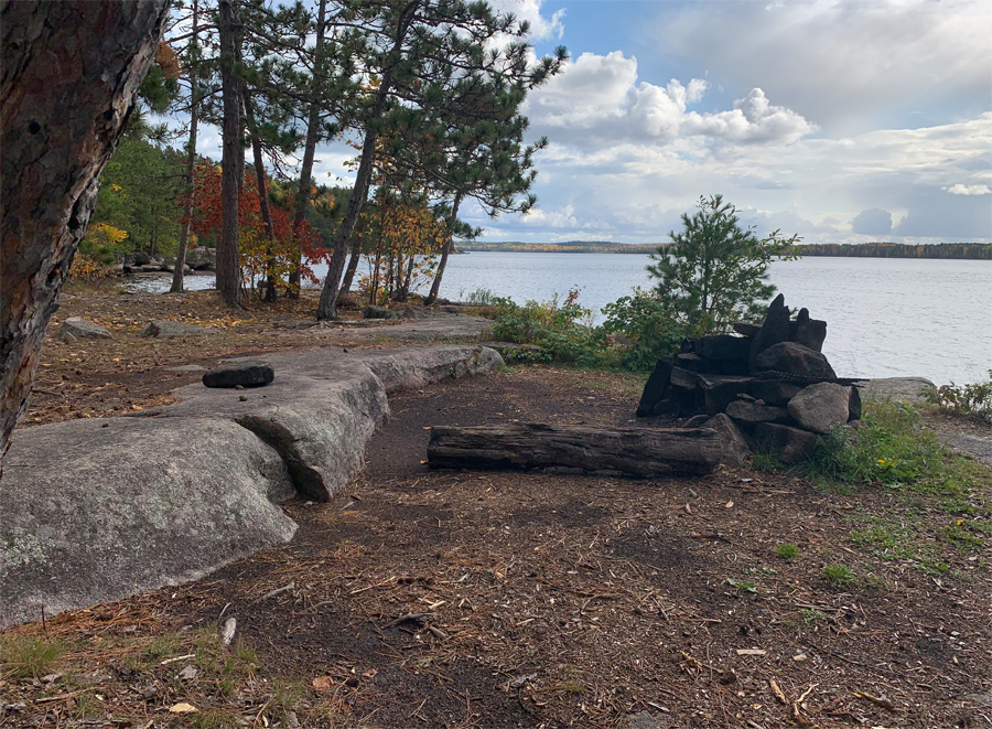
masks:
<svg viewBox="0 0 992 729"><path fill-rule="evenodd" d="M492 3L570 60L526 103L538 205L463 208L483 239L659 243L719 193L759 235L992 242L989 0Z"/></svg>

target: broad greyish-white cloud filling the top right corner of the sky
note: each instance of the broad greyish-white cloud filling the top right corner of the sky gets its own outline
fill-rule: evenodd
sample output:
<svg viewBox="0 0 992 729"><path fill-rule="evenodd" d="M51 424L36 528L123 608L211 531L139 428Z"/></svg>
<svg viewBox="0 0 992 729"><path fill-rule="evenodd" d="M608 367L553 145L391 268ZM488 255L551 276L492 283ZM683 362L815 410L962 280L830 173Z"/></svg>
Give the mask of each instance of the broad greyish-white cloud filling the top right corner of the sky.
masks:
<svg viewBox="0 0 992 729"><path fill-rule="evenodd" d="M714 83L737 93L761 86L829 131L865 131L897 111L945 122L961 104L973 114L989 108L988 0L662 7L656 37L669 57L711 69Z"/></svg>

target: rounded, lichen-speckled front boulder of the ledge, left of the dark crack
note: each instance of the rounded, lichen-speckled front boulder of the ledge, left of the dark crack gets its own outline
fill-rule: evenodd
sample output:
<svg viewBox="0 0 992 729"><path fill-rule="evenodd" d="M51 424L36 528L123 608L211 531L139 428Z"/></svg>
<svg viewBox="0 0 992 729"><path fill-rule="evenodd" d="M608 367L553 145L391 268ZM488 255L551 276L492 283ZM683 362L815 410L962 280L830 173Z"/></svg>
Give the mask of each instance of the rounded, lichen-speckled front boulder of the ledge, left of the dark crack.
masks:
<svg viewBox="0 0 992 729"><path fill-rule="evenodd" d="M101 427L108 424L108 427ZM0 498L0 628L195 580L296 525L276 449L214 418L18 430Z"/></svg>

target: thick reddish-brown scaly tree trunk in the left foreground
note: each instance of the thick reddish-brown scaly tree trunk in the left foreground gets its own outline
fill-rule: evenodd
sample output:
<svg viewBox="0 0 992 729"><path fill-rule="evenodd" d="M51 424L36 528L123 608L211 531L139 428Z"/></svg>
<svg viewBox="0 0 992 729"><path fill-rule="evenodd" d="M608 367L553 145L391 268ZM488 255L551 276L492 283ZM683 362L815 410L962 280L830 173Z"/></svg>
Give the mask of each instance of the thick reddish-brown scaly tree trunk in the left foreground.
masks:
<svg viewBox="0 0 992 729"><path fill-rule="evenodd" d="M168 0L0 2L0 457Z"/></svg>

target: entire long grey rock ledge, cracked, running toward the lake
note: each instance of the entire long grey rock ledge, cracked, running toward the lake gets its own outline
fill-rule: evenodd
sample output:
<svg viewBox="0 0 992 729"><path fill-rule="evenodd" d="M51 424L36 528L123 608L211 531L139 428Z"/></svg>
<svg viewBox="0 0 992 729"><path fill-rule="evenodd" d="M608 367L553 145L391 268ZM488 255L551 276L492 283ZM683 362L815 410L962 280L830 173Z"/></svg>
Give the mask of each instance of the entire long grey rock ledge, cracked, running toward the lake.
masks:
<svg viewBox="0 0 992 729"><path fill-rule="evenodd" d="M0 629L195 580L289 542L279 503L363 468L389 393L498 368L483 346L272 356L247 390L14 433L0 482ZM244 398L244 399L242 399ZM140 416L141 414L134 414Z"/></svg>

